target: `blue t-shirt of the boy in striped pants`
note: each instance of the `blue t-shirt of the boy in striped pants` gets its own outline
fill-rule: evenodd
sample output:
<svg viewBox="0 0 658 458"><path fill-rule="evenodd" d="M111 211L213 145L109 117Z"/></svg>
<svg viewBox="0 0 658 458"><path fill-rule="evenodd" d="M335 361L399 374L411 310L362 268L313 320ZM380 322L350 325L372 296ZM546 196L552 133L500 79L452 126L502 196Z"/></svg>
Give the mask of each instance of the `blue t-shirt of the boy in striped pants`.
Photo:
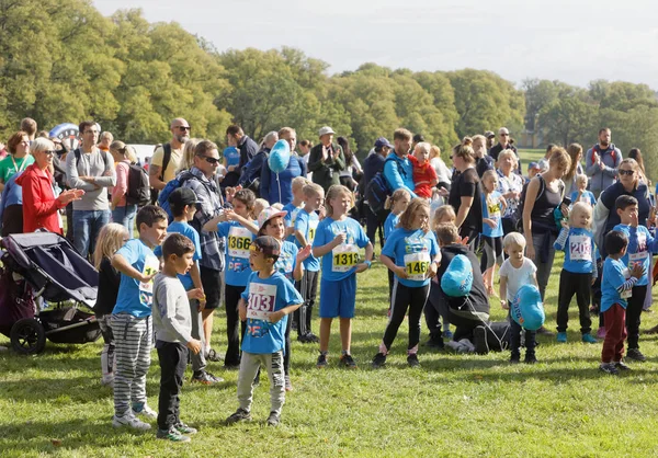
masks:
<svg viewBox="0 0 658 458"><path fill-rule="evenodd" d="M144 275L151 275L160 270L160 262L154 251L139 239L128 240L126 244L118 249L116 254L121 254L133 268ZM152 279L148 283L140 283L133 277L121 274L118 296L112 313L128 313L136 318L150 317L152 302Z"/></svg>

